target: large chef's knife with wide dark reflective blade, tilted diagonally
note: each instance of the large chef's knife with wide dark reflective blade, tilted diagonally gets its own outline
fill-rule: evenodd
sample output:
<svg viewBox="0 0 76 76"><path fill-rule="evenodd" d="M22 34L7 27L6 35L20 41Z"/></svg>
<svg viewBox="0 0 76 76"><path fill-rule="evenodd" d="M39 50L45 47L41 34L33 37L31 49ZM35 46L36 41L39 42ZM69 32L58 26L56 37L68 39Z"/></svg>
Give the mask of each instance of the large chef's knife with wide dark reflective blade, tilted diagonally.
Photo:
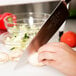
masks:
<svg viewBox="0 0 76 76"><path fill-rule="evenodd" d="M49 18L43 24L42 28L32 39L31 43L28 45L24 51L22 57L17 63L15 69L25 66L30 52L38 51L38 49L54 35L54 33L59 29L62 23L68 18L69 13L67 10L67 1L59 1L56 8L53 10Z"/></svg>

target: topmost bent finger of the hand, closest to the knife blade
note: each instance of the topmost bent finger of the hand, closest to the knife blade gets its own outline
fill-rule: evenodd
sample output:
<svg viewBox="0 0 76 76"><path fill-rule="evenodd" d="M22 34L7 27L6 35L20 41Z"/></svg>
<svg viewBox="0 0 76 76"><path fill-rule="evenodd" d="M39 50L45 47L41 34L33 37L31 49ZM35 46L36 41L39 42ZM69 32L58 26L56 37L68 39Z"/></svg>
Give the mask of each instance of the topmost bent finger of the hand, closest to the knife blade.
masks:
<svg viewBox="0 0 76 76"><path fill-rule="evenodd" d="M65 44L62 42L52 42L52 43L47 43L45 45L43 45L42 47L39 48L38 52L42 52L42 51L50 51L53 53L58 53L61 50L63 51L65 46Z"/></svg>

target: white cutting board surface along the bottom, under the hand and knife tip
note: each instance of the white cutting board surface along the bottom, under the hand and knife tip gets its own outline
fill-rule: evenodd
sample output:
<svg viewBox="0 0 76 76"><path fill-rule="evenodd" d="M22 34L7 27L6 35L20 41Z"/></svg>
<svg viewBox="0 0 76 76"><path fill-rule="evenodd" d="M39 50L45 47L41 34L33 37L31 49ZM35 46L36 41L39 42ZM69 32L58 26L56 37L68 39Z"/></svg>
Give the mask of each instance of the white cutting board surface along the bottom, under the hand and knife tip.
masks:
<svg viewBox="0 0 76 76"><path fill-rule="evenodd" d="M0 76L65 76L56 69L47 66L36 67L26 64L22 68L14 69L16 63L9 62L0 65Z"/></svg>

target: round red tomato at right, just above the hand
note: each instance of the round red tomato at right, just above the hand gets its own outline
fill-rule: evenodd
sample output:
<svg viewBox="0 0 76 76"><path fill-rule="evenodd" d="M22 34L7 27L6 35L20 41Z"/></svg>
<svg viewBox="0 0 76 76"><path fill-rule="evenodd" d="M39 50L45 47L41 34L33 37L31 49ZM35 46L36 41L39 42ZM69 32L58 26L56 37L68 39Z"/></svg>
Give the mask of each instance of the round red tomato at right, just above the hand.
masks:
<svg viewBox="0 0 76 76"><path fill-rule="evenodd" d="M75 47L76 46L76 33L72 31L65 32L61 36L60 42L64 42L68 44L70 47Z"/></svg>

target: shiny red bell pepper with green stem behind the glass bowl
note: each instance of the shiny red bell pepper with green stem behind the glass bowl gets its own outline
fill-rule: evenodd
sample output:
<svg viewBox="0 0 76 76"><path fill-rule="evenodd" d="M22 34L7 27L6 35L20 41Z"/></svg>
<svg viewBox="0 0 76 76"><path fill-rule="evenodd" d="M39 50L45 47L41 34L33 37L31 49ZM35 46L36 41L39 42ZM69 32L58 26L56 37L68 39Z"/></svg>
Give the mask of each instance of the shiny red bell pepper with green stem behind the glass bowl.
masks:
<svg viewBox="0 0 76 76"><path fill-rule="evenodd" d="M16 15L12 14L12 13L3 13L0 15L0 29L1 30L7 30L5 27L5 22L4 19L7 19L9 22L14 22L16 23Z"/></svg>

